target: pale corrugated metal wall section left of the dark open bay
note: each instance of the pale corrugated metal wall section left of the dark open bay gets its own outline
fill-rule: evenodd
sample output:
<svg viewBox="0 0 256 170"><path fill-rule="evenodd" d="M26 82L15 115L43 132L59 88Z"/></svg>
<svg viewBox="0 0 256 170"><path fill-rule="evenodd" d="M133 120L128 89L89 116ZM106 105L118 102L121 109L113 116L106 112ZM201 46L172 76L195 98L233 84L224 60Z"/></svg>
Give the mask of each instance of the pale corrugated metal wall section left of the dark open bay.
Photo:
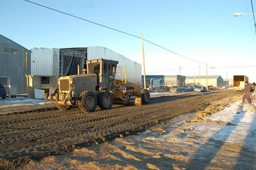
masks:
<svg viewBox="0 0 256 170"><path fill-rule="evenodd" d="M31 51L31 75L58 75L59 49L34 48Z"/></svg>

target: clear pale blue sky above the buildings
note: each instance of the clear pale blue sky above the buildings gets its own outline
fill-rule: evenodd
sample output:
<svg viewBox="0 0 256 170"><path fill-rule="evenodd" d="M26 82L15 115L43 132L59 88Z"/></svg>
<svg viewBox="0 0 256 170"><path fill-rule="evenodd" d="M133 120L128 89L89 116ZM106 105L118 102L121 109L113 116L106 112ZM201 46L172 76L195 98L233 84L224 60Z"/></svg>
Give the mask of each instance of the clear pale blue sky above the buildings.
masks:
<svg viewBox="0 0 256 170"><path fill-rule="evenodd" d="M247 75L256 81L256 34L250 0L31 0L133 35L209 64L208 75ZM36 6L2 0L0 34L28 49L104 46L142 62L141 40ZM256 11L256 0L253 0ZM206 75L205 65L144 42L147 74ZM100 56L99 56L100 57ZM169 69L169 70L168 70ZM160 71L159 71L160 70ZM164 70L164 71L163 71Z"/></svg>

